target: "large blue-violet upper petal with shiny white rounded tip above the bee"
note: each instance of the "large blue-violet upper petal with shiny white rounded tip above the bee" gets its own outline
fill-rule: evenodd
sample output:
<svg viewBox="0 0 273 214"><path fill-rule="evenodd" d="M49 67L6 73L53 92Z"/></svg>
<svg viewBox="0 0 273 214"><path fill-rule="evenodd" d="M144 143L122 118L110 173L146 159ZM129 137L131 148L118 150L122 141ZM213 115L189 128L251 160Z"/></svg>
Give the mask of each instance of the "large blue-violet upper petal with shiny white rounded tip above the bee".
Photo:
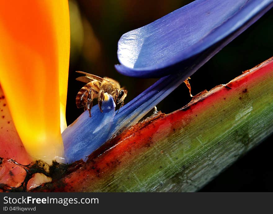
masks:
<svg viewBox="0 0 273 214"><path fill-rule="evenodd" d="M207 48L230 42L273 6L272 0L196 0L120 38L115 68L132 77L183 71ZM227 42L227 43L228 43ZM226 43L226 44L227 44ZM189 75L188 75L189 76Z"/></svg>

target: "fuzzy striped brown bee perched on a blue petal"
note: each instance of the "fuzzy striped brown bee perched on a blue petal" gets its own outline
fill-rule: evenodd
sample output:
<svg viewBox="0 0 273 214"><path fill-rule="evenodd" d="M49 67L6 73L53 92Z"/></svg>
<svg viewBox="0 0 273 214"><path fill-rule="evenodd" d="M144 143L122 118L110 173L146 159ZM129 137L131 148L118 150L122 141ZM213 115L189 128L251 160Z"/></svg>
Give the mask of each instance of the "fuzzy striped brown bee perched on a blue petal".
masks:
<svg viewBox="0 0 273 214"><path fill-rule="evenodd" d="M108 77L101 78L99 76L88 74L83 71L76 71L85 76L80 76L76 80L87 83L83 86L76 96L76 105L78 108L84 108L89 111L89 117L91 117L91 109L93 99L98 99L98 105L101 109L102 101L104 100L104 93L112 95L116 105L120 104L119 109L124 104L124 99L127 96L127 90L120 87L119 82ZM119 112L119 110L118 110ZM117 112L117 113L118 113Z"/></svg>

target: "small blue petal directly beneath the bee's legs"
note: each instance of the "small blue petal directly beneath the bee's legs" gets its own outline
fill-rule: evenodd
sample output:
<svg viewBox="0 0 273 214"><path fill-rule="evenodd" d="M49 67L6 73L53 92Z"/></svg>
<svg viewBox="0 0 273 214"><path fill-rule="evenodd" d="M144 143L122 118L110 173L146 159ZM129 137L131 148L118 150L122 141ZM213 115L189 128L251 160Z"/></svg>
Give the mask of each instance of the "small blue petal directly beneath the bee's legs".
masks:
<svg viewBox="0 0 273 214"><path fill-rule="evenodd" d="M98 105L92 107L92 117L89 112L83 112L74 123L62 133L66 162L71 163L87 156L109 139L113 125L115 103L113 98L102 102L103 113Z"/></svg>

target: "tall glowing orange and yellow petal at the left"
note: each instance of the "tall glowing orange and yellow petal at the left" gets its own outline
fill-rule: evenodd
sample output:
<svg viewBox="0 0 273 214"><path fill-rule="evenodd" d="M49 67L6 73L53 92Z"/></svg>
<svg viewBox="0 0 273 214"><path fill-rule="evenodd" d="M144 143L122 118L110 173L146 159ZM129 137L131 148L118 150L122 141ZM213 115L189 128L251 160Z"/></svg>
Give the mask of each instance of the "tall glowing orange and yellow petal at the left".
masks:
<svg viewBox="0 0 273 214"><path fill-rule="evenodd" d="M61 161L69 67L67 1L0 2L0 82L34 159Z"/></svg>

